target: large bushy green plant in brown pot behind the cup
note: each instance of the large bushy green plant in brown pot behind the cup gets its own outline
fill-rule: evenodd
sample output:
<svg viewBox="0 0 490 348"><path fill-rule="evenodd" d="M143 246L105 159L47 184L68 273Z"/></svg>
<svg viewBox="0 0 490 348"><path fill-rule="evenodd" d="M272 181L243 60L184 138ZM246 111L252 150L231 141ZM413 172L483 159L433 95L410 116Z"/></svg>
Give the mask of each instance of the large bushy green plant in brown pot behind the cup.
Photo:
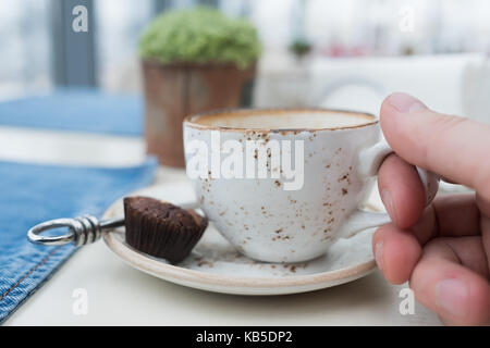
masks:
<svg viewBox="0 0 490 348"><path fill-rule="evenodd" d="M194 8L156 17L139 41L147 152L162 164L184 166L182 120L243 105L260 50L253 25L218 10Z"/></svg>

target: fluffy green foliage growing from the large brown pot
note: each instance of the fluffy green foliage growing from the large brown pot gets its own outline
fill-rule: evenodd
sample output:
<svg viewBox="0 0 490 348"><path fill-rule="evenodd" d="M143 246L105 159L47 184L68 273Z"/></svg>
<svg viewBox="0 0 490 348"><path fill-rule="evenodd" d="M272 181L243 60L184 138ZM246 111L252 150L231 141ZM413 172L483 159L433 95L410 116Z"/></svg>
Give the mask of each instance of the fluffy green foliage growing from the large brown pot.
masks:
<svg viewBox="0 0 490 348"><path fill-rule="evenodd" d="M245 20L210 8L166 12L139 40L139 54L170 63L234 63L245 69L261 51L257 30Z"/></svg>

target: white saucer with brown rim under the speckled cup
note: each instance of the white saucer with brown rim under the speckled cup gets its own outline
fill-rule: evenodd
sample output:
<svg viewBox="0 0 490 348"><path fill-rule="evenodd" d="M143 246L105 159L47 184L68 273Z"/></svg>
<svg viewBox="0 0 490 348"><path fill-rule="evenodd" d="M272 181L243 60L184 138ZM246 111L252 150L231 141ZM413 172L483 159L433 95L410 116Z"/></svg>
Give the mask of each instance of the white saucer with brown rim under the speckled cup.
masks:
<svg viewBox="0 0 490 348"><path fill-rule="evenodd" d="M152 186L134 192L175 204L189 202L189 184ZM122 216L122 199L105 219ZM142 253L124 241L124 228L105 234L109 248L130 265L183 286L235 295L282 295L317 290L352 282L375 270L371 251L373 228L335 241L326 256L304 263L280 264L250 260L240 254L210 224L192 254L177 265Z"/></svg>

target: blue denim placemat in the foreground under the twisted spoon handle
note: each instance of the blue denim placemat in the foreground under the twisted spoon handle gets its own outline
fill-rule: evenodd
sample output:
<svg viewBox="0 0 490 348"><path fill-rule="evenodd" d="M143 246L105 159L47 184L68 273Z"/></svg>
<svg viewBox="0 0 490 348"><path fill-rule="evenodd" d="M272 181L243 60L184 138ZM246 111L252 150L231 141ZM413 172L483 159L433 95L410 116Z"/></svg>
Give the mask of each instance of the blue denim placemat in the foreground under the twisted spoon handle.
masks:
<svg viewBox="0 0 490 348"><path fill-rule="evenodd" d="M119 197L152 179L157 161L123 169L0 162L0 323L75 251L27 241L46 220L100 216Z"/></svg>

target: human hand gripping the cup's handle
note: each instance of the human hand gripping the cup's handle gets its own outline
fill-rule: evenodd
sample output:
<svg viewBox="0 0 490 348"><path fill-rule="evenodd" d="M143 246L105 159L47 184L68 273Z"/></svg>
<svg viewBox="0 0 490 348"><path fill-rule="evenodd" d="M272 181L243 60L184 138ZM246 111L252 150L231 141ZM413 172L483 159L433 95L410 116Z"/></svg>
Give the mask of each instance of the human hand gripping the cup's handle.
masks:
<svg viewBox="0 0 490 348"><path fill-rule="evenodd" d="M490 324L490 126L439 114L405 94L383 101L380 121L396 154L378 174L392 219L373 236L378 266L392 284L409 281L444 324ZM438 197L426 208L408 163L476 194Z"/></svg>

